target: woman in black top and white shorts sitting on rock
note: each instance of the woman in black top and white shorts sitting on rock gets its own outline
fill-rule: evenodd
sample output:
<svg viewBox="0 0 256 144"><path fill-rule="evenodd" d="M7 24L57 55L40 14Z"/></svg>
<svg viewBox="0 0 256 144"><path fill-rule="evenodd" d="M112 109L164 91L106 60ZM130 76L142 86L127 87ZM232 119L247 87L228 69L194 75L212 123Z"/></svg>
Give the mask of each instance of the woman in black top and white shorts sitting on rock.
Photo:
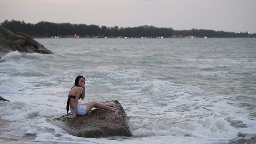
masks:
<svg viewBox="0 0 256 144"><path fill-rule="evenodd" d="M76 118L76 115L86 115L93 107L101 108L105 110L110 110L114 112L116 108L111 107L113 104L100 104L98 102L88 102L86 104L80 104L78 100L84 99L85 93L85 78L83 76L77 76L75 80L75 85L71 88L68 93L67 102L67 113L70 107L72 116L69 118Z"/></svg>

